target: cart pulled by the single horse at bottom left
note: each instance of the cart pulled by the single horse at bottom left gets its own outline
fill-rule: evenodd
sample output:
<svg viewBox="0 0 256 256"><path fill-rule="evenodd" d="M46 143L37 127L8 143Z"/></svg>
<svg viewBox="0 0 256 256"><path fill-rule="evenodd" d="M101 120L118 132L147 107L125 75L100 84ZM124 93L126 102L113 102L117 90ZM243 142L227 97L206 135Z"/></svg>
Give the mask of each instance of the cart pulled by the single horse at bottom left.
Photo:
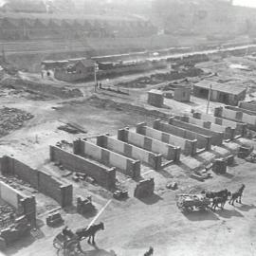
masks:
<svg viewBox="0 0 256 256"><path fill-rule="evenodd" d="M57 249L58 255L71 256L78 255L80 250L80 240L77 235L69 238L59 233L53 240L53 247Z"/></svg>

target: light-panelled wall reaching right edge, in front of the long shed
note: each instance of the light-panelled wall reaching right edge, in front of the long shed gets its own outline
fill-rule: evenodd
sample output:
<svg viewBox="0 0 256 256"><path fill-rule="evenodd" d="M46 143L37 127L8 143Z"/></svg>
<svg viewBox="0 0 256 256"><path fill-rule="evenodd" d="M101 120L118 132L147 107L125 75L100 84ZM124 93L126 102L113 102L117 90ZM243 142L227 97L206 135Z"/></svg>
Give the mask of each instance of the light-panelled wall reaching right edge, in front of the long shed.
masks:
<svg viewBox="0 0 256 256"><path fill-rule="evenodd" d="M234 109L236 109L236 110L233 110L233 109L230 109L227 107L225 107L225 108L217 107L214 110L214 116L247 123L247 125L250 129L256 131L256 116L250 115L250 114L247 114L247 113L241 111L241 108L240 109L234 108Z"/></svg>

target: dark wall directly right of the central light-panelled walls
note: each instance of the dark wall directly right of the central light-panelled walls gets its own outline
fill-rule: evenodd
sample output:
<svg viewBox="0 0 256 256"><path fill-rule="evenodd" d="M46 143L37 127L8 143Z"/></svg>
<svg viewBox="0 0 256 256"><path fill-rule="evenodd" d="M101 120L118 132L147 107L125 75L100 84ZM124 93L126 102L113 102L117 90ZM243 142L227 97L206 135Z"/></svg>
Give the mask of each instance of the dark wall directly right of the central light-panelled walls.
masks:
<svg viewBox="0 0 256 256"><path fill-rule="evenodd" d="M203 136L190 130L162 122L160 119L153 122L153 128L177 137L183 137L190 140L197 139L197 148L199 149L210 150L211 148L211 137Z"/></svg>

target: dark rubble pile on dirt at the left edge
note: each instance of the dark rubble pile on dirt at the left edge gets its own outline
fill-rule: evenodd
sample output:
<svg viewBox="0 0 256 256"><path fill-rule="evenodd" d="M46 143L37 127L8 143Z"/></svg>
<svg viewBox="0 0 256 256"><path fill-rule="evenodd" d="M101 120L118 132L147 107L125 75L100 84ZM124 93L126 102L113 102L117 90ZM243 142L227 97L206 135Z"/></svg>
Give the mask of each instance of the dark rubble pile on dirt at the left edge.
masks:
<svg viewBox="0 0 256 256"><path fill-rule="evenodd" d="M21 128L24 122L32 119L33 115L17 108L4 107L0 109L0 137Z"/></svg>

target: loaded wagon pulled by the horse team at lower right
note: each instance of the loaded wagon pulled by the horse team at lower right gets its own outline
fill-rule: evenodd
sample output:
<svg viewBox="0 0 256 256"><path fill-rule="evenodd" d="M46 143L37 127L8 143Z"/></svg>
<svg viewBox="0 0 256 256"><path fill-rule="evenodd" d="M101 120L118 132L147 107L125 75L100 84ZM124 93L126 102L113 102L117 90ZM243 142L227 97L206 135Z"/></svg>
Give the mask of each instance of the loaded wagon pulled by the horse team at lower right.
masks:
<svg viewBox="0 0 256 256"><path fill-rule="evenodd" d="M204 194L178 194L176 205L179 210L190 212L192 210L207 210L210 206L210 199Z"/></svg>

